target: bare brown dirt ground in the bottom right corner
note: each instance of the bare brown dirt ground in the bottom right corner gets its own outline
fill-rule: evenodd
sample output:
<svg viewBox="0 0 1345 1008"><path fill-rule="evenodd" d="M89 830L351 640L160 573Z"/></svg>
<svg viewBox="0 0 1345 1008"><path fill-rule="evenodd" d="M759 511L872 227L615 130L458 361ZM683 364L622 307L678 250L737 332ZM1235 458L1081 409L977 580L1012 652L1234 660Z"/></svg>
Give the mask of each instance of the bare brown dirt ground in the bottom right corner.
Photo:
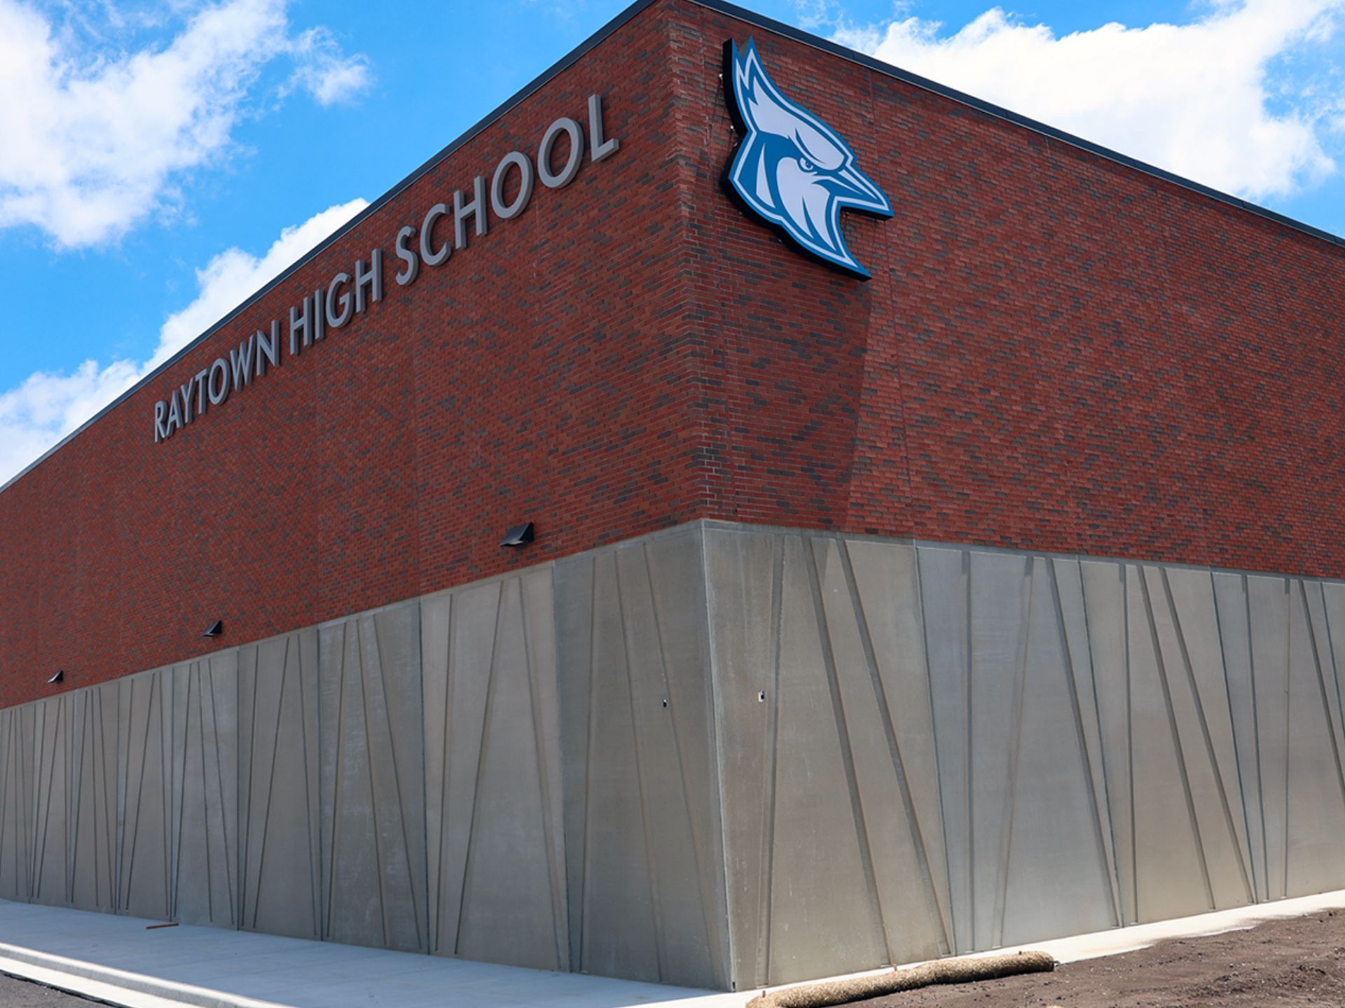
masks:
<svg viewBox="0 0 1345 1008"><path fill-rule="evenodd" d="M1036 973L929 986L865 1008L1290 1008L1345 1005L1345 910L1181 938Z"/></svg>

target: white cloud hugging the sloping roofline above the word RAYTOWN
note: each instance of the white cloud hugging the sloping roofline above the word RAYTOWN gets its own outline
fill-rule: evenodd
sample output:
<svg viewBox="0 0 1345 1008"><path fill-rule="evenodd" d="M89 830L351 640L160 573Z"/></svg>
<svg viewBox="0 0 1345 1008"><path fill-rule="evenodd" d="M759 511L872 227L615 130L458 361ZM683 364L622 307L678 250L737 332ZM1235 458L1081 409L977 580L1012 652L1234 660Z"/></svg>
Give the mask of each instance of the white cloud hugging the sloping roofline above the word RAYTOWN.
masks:
<svg viewBox="0 0 1345 1008"><path fill-rule="evenodd" d="M315 214L280 233L270 249L253 255L227 249L196 270L196 298L164 320L148 360L86 360L70 374L39 371L0 392L0 484L38 458L153 371L246 297L367 207L354 199Z"/></svg>

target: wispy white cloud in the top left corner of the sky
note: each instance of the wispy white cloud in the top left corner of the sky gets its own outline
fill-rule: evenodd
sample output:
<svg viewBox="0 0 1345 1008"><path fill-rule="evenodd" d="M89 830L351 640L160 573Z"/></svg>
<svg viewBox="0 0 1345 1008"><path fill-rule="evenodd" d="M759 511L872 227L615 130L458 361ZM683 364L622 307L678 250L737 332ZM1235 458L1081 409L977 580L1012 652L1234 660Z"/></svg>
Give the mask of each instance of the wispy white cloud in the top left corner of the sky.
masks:
<svg viewBox="0 0 1345 1008"><path fill-rule="evenodd" d="M315 31L289 35L285 0L226 0L165 46L109 56L0 0L0 227L75 247L171 211L186 173L227 152L270 62L320 56L325 83L309 90L323 103L367 85L367 60Z"/></svg>

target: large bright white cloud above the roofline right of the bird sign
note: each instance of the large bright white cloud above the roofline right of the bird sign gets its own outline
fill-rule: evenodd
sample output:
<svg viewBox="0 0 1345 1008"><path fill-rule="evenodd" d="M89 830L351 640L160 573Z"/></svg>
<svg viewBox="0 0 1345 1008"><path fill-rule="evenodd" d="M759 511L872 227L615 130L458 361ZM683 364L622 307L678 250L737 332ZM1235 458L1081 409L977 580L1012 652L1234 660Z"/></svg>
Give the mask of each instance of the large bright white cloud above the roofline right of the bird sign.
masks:
<svg viewBox="0 0 1345 1008"><path fill-rule="evenodd" d="M1216 0L1189 24L1104 24L1057 36L1001 8L954 34L898 16L837 40L1219 190L1283 196L1336 171L1323 148L1341 95L1321 58L1345 0ZM1306 74L1306 77L1305 77Z"/></svg>

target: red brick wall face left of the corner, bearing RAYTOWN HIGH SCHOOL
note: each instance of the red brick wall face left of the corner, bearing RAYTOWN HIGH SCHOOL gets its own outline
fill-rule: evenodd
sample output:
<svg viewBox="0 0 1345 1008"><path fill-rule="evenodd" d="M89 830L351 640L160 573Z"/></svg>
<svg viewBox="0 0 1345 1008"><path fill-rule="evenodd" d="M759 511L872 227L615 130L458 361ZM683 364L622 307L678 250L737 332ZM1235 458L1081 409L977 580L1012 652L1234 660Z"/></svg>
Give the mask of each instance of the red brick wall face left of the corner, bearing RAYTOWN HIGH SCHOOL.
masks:
<svg viewBox="0 0 1345 1008"><path fill-rule="evenodd" d="M51 692L58 668L86 685L703 512L668 13L620 28L0 493L0 704ZM586 128L594 91L617 153L393 281L401 226L535 153L557 117ZM375 245L379 304L153 444L157 399ZM527 519L538 543L502 550ZM203 641L215 618L225 636Z"/></svg>

